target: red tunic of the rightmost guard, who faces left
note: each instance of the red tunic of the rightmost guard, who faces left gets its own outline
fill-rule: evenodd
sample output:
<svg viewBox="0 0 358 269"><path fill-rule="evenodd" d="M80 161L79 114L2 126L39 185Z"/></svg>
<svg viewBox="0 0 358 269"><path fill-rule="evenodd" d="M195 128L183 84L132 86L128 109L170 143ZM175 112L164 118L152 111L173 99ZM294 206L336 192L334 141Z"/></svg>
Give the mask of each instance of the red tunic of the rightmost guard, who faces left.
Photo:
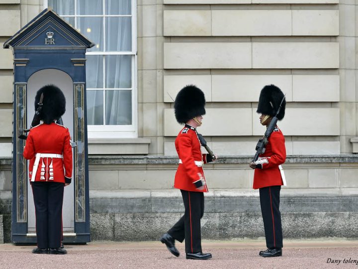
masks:
<svg viewBox="0 0 358 269"><path fill-rule="evenodd" d="M269 186L283 185L278 165L286 160L286 147L284 136L276 127L269 136L265 153L259 156L257 164L262 164L262 169L256 168L254 173L254 189Z"/></svg>

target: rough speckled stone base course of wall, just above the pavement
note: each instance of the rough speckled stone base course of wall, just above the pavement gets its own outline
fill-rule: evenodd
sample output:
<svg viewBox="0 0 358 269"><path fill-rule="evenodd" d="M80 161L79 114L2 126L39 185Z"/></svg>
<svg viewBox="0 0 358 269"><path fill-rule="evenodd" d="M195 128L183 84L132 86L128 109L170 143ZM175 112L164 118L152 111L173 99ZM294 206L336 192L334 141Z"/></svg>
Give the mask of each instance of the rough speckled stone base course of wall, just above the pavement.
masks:
<svg viewBox="0 0 358 269"><path fill-rule="evenodd" d="M182 216L182 213L91 214L93 241L158 240ZM357 239L358 212L282 213L285 239L347 238ZM201 219L204 239L258 239L264 237L261 213L204 213Z"/></svg>

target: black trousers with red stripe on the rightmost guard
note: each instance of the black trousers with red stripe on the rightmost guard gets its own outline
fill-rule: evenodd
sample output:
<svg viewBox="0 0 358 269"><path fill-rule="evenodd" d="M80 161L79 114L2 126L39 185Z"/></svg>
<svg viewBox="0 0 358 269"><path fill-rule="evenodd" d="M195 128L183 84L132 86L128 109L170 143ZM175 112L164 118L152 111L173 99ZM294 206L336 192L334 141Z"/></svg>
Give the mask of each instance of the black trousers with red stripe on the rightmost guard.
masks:
<svg viewBox="0 0 358 269"><path fill-rule="evenodd" d="M266 246L282 248L281 213L279 212L279 193L281 186L260 189L261 212L264 219Z"/></svg>

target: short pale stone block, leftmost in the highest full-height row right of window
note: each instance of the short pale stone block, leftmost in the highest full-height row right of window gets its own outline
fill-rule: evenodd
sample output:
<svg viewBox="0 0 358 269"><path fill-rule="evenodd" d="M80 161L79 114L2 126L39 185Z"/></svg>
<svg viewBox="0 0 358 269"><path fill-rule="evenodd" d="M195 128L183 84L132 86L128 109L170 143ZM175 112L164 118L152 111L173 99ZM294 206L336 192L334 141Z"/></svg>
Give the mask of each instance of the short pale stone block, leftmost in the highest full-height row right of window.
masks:
<svg viewBox="0 0 358 269"><path fill-rule="evenodd" d="M211 10L164 10L164 36L210 36Z"/></svg>

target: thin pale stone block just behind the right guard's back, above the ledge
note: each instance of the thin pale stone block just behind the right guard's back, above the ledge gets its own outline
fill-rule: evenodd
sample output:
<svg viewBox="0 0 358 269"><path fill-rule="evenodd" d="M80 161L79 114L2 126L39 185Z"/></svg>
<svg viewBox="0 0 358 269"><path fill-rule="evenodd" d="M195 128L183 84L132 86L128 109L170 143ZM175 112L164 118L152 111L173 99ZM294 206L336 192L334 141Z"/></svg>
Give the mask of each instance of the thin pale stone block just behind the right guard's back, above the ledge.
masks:
<svg viewBox="0 0 358 269"><path fill-rule="evenodd" d="M339 141L293 141L292 148L294 155L338 155L341 146Z"/></svg>

